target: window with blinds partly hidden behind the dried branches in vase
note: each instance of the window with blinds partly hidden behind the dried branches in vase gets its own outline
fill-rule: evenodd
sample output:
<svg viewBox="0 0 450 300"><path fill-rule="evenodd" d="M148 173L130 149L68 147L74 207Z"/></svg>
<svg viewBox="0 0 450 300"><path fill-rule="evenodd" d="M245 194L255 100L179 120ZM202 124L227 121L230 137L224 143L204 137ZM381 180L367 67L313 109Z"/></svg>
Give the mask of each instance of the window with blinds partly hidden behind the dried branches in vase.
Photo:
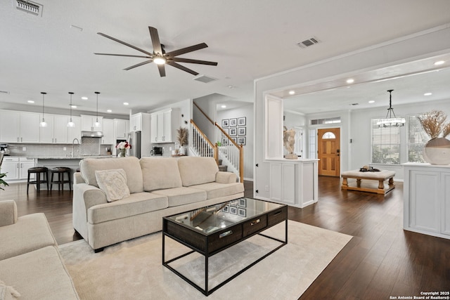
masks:
<svg viewBox="0 0 450 300"><path fill-rule="evenodd" d="M430 137L425 133L422 125L420 125L419 116L406 116L406 125L408 128L408 140L406 143L406 148L408 148L408 162L425 162L425 159L423 159L423 148L430 140Z"/></svg>

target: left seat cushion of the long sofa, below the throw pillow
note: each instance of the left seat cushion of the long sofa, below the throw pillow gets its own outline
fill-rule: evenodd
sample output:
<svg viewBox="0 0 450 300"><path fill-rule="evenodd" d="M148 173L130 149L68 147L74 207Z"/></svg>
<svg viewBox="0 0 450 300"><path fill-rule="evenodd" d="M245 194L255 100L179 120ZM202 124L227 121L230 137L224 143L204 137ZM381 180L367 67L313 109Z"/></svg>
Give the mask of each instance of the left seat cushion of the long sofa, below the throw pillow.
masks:
<svg viewBox="0 0 450 300"><path fill-rule="evenodd" d="M153 193L134 193L115 202L95 205L87 210L87 221L91 224L145 214L168 207L167 197Z"/></svg>

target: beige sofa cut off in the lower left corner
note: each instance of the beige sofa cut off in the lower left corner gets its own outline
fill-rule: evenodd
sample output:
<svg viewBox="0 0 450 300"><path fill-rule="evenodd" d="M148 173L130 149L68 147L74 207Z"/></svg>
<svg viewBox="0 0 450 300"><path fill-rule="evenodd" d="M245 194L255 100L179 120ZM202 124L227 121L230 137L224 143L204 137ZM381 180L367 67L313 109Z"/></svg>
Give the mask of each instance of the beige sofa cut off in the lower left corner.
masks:
<svg viewBox="0 0 450 300"><path fill-rule="evenodd" d="M0 244L0 299L79 299L44 214L0 201Z"/></svg>

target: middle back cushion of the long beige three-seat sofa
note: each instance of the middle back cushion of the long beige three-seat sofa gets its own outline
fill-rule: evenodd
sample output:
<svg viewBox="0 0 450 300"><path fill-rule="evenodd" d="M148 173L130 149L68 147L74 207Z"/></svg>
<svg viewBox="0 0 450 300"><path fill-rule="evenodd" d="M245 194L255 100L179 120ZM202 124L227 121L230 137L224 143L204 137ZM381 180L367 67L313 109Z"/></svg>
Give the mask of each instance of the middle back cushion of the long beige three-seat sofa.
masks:
<svg viewBox="0 0 450 300"><path fill-rule="evenodd" d="M181 188L178 160L174 157L143 157L140 160L143 190Z"/></svg>

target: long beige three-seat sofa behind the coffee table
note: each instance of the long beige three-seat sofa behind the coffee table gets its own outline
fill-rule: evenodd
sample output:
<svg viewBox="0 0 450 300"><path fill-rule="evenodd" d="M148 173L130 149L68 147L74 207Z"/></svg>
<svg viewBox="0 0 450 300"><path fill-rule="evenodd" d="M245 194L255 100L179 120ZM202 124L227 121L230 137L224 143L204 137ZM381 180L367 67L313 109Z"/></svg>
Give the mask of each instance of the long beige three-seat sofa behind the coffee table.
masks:
<svg viewBox="0 0 450 300"><path fill-rule="evenodd" d="M236 174L219 171L211 157L83 159L79 169L74 175L73 226L96 252L162 230L162 216L244 195ZM98 175L122 169L129 196L108 202Z"/></svg>

